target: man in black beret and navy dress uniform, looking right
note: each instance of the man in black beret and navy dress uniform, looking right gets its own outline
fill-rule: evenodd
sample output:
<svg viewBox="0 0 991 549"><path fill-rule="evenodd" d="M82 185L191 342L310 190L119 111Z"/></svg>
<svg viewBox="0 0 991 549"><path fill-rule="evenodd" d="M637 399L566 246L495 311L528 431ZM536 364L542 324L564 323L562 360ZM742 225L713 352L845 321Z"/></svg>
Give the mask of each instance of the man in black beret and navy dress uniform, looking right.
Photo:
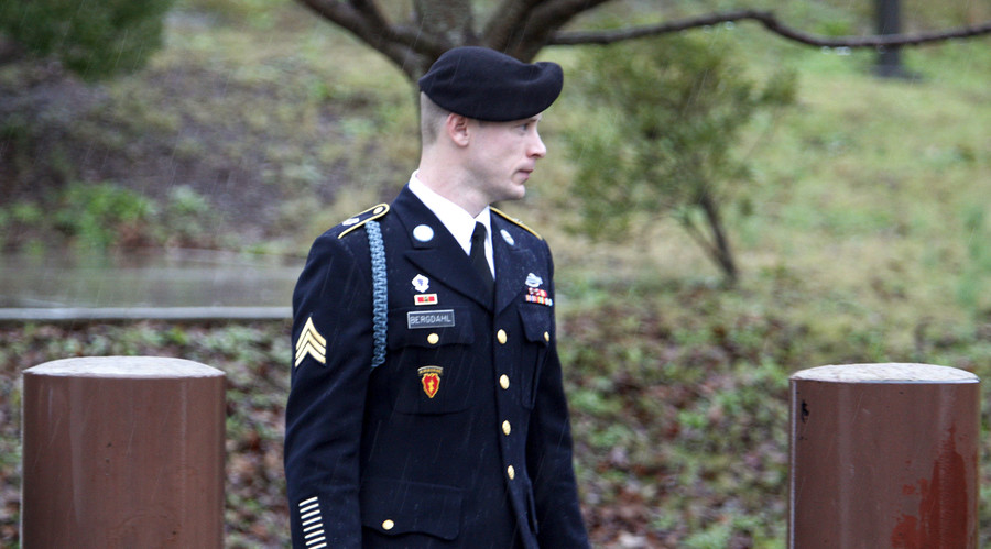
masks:
<svg viewBox="0 0 991 549"><path fill-rule="evenodd" d="M293 546L582 548L551 251L523 197L553 63L451 50L420 79L420 167L313 244L293 295Z"/></svg>

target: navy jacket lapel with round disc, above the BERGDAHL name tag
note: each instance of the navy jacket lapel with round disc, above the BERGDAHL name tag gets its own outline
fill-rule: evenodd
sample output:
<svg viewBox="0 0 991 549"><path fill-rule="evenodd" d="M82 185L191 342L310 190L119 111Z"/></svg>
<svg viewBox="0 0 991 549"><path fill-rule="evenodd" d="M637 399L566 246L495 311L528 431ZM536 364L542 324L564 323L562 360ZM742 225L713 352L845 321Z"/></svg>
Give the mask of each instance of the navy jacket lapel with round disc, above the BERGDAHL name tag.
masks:
<svg viewBox="0 0 991 549"><path fill-rule="evenodd" d="M468 255L437 216L405 187L392 202L392 209L403 223L405 238L410 239L404 256L431 278L490 308L491 304L486 303L486 290L471 268ZM415 238L414 231L420 226L431 228L433 237L429 240Z"/></svg>

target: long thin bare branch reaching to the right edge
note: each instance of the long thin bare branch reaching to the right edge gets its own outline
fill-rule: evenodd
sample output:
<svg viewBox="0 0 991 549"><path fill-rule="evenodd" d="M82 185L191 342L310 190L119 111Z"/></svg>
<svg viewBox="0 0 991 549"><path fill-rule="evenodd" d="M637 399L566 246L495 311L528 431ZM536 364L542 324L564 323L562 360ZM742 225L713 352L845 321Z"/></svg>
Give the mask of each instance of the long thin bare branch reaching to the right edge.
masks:
<svg viewBox="0 0 991 549"><path fill-rule="evenodd" d="M885 46L914 46L932 42L943 42L951 39L966 39L991 34L991 21L974 26L962 26L938 32L921 32L914 34L881 34L871 36L837 36L826 37L805 33L786 26L777 20L773 12L759 10L736 10L721 13L709 13L696 18L687 18L677 21L668 21L655 25L617 29L612 31L589 32L558 32L548 42L548 45L577 45L577 44L612 44L625 40L643 36L652 36L672 32L696 29L699 26L715 25L719 23L737 21L758 21L769 31L785 39L820 47L885 47Z"/></svg>

